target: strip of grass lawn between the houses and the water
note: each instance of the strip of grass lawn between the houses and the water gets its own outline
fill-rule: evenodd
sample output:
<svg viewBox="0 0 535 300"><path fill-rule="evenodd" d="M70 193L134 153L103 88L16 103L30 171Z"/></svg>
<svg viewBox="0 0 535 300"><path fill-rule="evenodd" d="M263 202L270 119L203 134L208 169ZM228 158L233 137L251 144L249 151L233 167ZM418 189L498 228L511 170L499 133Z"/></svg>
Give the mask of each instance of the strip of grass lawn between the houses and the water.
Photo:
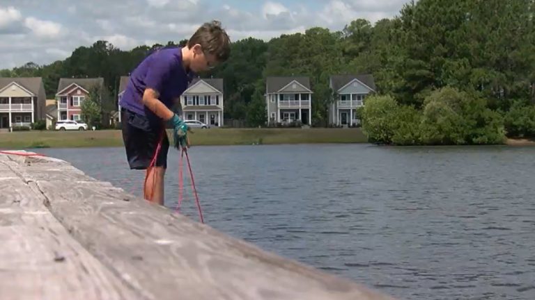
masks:
<svg viewBox="0 0 535 300"><path fill-rule="evenodd" d="M168 131L171 137L171 131ZM359 128L210 128L189 134L195 145L366 142ZM0 148L121 147L121 131L17 131L0 133Z"/></svg>

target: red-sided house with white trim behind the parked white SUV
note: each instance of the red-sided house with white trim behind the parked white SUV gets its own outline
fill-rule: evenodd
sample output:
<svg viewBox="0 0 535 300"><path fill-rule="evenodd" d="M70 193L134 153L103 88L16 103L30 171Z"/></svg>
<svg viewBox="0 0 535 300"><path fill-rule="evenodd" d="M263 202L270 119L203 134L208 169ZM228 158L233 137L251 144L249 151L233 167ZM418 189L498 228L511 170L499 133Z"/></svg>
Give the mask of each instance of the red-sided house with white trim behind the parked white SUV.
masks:
<svg viewBox="0 0 535 300"><path fill-rule="evenodd" d="M82 102L92 88L98 88L102 97L104 78L60 78L58 84L57 119L78 121L82 115Z"/></svg>

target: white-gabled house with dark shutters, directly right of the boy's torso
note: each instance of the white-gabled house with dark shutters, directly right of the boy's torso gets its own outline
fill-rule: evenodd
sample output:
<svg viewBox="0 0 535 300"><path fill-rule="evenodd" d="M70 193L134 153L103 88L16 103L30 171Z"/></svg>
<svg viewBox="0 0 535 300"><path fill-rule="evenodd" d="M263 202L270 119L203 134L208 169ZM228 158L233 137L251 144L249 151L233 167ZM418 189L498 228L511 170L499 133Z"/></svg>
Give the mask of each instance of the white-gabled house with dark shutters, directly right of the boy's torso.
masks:
<svg viewBox="0 0 535 300"><path fill-rule="evenodd" d="M210 126L223 126L224 99L222 78L193 78L180 96L183 119Z"/></svg>

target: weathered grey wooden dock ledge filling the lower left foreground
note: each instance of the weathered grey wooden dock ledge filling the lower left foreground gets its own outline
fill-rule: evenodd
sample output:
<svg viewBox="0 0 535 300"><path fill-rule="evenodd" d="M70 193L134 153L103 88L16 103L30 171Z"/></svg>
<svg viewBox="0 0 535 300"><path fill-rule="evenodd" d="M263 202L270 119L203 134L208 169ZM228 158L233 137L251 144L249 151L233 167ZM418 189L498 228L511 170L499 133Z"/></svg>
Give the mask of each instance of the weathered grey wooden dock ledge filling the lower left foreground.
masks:
<svg viewBox="0 0 535 300"><path fill-rule="evenodd" d="M0 240L0 299L392 299L45 156L0 153Z"/></svg>

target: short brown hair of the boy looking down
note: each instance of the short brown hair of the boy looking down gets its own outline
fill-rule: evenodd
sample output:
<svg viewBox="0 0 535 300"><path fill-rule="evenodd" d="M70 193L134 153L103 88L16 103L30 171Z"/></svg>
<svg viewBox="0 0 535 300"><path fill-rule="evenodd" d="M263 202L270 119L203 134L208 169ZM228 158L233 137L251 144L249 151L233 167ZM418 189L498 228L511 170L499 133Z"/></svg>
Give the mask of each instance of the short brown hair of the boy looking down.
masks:
<svg viewBox="0 0 535 300"><path fill-rule="evenodd" d="M231 40L222 28L221 22L206 22L195 31L187 41L187 47L191 48L200 44L203 51L215 56L219 62L224 62L231 55Z"/></svg>

